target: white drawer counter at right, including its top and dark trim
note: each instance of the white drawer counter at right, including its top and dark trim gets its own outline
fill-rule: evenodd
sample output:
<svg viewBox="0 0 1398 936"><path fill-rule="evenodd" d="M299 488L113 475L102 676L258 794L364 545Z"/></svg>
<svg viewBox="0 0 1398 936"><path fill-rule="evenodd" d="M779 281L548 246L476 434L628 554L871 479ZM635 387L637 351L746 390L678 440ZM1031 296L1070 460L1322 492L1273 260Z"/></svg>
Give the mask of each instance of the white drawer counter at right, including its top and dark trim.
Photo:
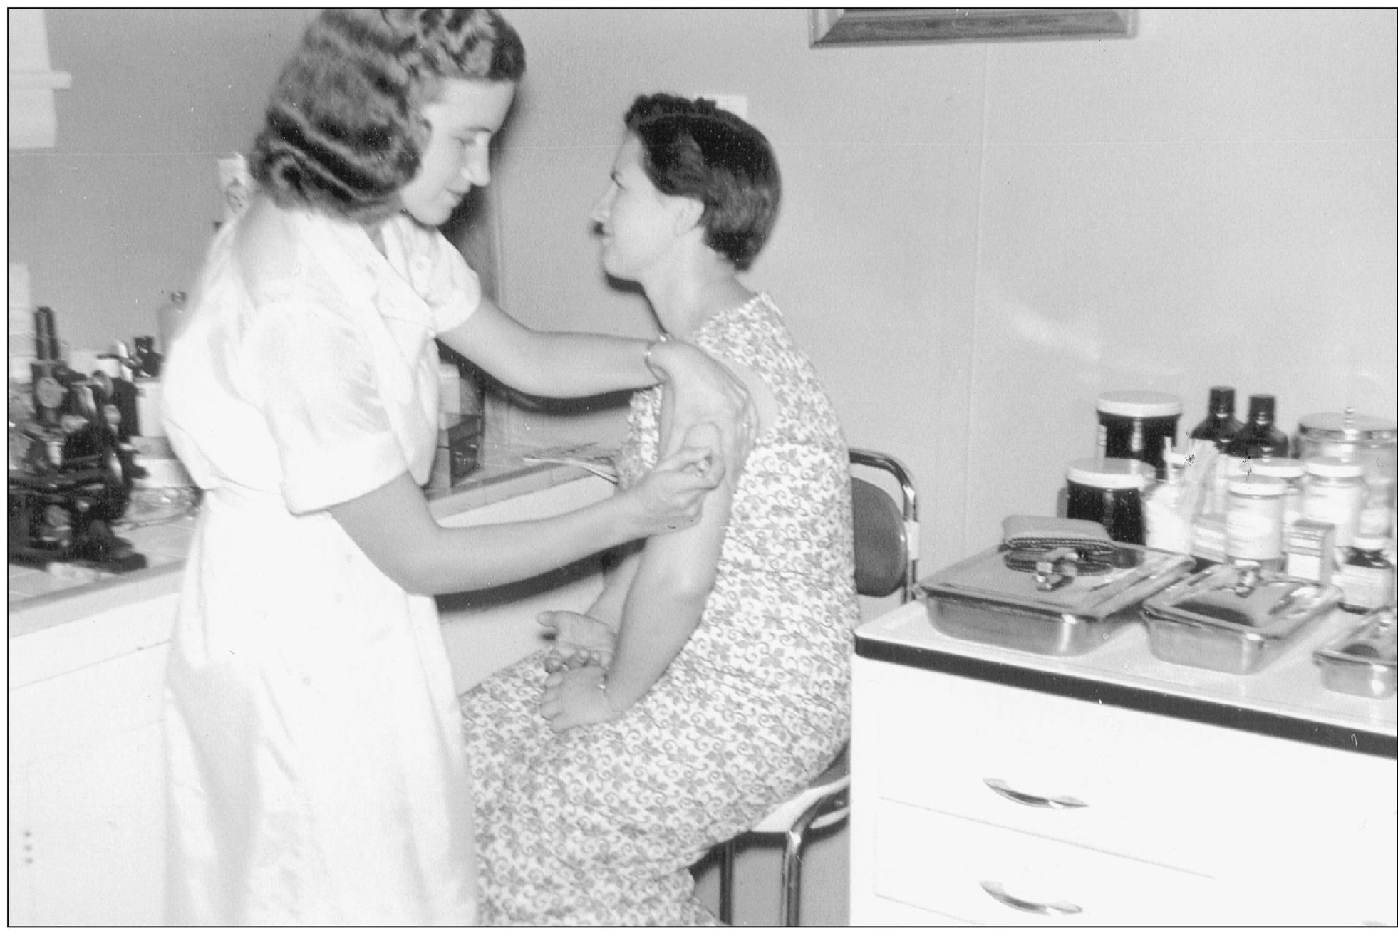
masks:
<svg viewBox="0 0 1398 936"><path fill-rule="evenodd" d="M1046 657L932 620L856 634L851 925L1394 925L1398 699L1311 661L1355 615L1246 676L1139 623Z"/></svg>

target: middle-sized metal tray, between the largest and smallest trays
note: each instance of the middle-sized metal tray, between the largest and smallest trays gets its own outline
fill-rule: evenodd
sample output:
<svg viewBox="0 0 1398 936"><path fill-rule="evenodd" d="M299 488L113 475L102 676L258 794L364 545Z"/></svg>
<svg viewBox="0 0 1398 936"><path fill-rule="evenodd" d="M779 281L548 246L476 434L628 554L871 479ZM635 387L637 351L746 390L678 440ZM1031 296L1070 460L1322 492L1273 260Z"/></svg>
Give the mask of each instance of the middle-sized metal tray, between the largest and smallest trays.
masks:
<svg viewBox="0 0 1398 936"><path fill-rule="evenodd" d="M1282 655L1339 598L1334 585L1213 566L1142 604L1141 616L1158 658L1244 675Z"/></svg>

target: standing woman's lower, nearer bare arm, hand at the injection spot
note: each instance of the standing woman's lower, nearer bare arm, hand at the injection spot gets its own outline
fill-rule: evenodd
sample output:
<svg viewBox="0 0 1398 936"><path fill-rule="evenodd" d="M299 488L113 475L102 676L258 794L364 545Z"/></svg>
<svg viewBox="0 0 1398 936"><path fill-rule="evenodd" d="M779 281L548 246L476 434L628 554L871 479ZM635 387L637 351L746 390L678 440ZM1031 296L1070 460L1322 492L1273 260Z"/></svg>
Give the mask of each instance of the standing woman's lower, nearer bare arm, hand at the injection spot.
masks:
<svg viewBox="0 0 1398 936"><path fill-rule="evenodd" d="M723 458L685 447L640 485L545 520L446 528L408 474L330 507L369 560L419 595L489 588L528 578L624 542L692 525L723 478Z"/></svg>

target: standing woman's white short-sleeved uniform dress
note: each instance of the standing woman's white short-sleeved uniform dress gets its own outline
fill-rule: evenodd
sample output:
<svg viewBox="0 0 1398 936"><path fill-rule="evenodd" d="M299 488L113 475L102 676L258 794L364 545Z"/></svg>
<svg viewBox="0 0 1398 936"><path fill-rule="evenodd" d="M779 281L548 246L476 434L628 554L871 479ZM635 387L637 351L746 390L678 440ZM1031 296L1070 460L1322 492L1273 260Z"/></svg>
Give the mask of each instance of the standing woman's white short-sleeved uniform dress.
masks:
<svg viewBox="0 0 1398 936"><path fill-rule="evenodd" d="M404 471L426 482L433 339L480 285L407 217L380 254L358 225L259 210L256 249L249 215L210 247L164 379L171 443L206 490L165 692L168 922L471 923L436 605L327 509Z"/></svg>

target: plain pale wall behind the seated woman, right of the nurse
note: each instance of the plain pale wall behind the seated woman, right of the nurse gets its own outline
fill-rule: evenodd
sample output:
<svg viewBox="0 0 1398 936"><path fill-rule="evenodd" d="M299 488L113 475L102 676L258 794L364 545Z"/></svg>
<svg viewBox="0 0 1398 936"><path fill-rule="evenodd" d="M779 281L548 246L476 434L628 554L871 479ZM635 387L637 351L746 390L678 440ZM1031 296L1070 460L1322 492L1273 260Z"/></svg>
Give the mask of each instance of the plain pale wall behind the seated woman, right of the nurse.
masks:
<svg viewBox="0 0 1398 936"><path fill-rule="evenodd" d="M1053 513L1096 395L1395 415L1395 14L1144 10L1130 39L811 49L807 11L513 10L492 197L527 321L650 328L587 212L640 92L748 98L783 169L749 284L857 446L924 492L931 571ZM531 430L538 418L520 425ZM601 426L601 429L598 429ZM579 432L617 432L584 422Z"/></svg>

